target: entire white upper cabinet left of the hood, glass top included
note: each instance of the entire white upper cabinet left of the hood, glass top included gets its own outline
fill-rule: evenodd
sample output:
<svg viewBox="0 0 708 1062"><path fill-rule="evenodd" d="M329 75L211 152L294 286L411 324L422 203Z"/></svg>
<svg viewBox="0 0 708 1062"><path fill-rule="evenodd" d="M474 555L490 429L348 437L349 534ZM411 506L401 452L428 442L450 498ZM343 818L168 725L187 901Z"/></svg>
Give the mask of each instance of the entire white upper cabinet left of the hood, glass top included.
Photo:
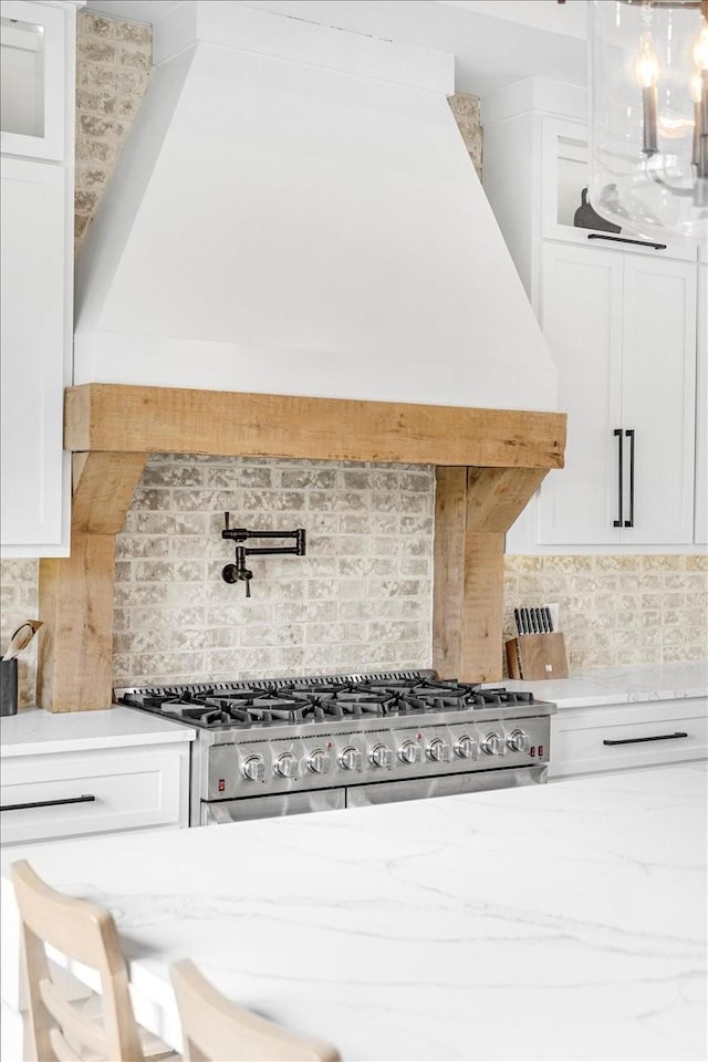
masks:
<svg viewBox="0 0 708 1062"><path fill-rule="evenodd" d="M1 6L3 556L69 553L77 6Z"/></svg>

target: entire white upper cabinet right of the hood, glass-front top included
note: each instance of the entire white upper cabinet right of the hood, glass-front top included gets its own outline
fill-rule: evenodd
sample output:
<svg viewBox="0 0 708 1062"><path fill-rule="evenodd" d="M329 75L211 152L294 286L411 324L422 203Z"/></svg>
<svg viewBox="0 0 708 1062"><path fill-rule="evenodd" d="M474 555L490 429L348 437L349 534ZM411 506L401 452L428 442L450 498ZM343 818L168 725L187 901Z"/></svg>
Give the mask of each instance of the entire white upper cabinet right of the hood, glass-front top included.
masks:
<svg viewBox="0 0 708 1062"><path fill-rule="evenodd" d="M519 82L482 100L482 126L485 190L569 417L565 468L546 476L507 551L688 552L707 537L697 247L613 231L584 201L583 90Z"/></svg>

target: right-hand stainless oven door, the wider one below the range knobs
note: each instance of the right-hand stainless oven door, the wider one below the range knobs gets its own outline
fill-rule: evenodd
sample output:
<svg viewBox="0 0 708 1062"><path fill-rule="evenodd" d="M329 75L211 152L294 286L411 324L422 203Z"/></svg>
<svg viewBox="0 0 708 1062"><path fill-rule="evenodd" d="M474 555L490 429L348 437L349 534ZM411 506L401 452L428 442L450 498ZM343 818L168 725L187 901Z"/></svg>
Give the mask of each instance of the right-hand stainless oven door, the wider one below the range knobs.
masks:
<svg viewBox="0 0 708 1062"><path fill-rule="evenodd" d="M475 771L471 774L447 774L440 778L410 778L403 782L376 782L352 785L346 791L347 808L387 804L396 800L423 800L426 796L457 796L492 789L512 789L548 781L548 764Z"/></svg>

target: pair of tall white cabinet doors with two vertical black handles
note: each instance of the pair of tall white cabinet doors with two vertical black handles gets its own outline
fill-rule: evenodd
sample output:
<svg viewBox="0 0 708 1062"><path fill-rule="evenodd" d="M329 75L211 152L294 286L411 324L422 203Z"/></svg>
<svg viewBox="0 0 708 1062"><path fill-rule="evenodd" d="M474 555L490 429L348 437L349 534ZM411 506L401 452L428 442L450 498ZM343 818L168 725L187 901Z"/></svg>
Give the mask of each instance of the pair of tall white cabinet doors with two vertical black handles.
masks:
<svg viewBox="0 0 708 1062"><path fill-rule="evenodd" d="M540 311L569 426L538 541L690 543L695 266L544 241Z"/></svg>

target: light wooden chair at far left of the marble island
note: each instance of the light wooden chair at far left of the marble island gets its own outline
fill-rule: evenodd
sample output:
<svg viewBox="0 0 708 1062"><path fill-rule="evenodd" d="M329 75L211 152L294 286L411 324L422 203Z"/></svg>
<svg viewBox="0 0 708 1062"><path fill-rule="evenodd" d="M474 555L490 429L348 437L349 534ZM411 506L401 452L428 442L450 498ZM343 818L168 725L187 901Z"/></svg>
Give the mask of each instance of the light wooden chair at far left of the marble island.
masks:
<svg viewBox="0 0 708 1062"><path fill-rule="evenodd" d="M178 1060L133 1014L128 974L111 914L64 896L21 860L10 867L21 922L29 1009L25 1062ZM101 975L101 996L46 957L50 945Z"/></svg>

